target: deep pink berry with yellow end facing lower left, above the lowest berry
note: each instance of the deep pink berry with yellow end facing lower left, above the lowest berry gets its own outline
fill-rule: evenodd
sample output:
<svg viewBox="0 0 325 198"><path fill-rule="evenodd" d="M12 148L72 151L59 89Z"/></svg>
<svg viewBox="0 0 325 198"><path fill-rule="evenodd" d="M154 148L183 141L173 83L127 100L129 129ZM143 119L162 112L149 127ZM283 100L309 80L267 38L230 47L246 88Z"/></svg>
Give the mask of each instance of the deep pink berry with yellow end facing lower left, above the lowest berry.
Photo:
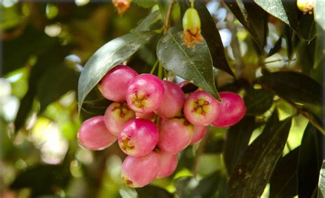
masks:
<svg viewBox="0 0 325 198"><path fill-rule="evenodd" d="M154 150L158 138L158 129L152 121L133 119L121 130L119 147L129 156L145 156Z"/></svg>

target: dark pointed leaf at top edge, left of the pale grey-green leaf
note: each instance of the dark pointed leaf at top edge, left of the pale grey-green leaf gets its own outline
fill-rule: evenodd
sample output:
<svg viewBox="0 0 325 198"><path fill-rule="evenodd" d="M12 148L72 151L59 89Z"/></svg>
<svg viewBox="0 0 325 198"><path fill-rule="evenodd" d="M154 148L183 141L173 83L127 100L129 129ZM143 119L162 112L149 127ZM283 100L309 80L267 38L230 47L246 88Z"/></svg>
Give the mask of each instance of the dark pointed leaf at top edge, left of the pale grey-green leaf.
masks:
<svg viewBox="0 0 325 198"><path fill-rule="evenodd" d="M267 12L253 1L224 1L263 51L267 37Z"/></svg>

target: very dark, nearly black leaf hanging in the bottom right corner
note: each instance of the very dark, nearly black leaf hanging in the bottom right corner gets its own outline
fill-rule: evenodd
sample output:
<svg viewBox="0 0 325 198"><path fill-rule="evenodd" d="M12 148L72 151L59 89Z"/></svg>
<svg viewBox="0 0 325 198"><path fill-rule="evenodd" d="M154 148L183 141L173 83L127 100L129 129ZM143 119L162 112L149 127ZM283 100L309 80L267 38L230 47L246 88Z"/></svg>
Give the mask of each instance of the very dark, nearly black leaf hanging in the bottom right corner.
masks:
<svg viewBox="0 0 325 198"><path fill-rule="evenodd" d="M311 123L307 125L302 137L298 160L298 196L300 198L311 197L317 186L323 160L323 138L324 136Z"/></svg>

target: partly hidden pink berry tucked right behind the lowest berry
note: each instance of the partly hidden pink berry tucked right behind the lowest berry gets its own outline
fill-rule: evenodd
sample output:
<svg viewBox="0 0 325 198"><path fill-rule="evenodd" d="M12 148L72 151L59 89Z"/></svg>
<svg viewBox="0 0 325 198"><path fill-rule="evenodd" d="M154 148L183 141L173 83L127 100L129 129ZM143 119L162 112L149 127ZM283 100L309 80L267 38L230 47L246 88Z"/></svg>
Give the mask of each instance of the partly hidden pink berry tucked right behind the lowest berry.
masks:
<svg viewBox="0 0 325 198"><path fill-rule="evenodd" d="M168 177L176 169L178 163L177 153L169 154L160 151L156 151L156 153L158 154L160 160L160 170L158 172L157 177L158 178Z"/></svg>

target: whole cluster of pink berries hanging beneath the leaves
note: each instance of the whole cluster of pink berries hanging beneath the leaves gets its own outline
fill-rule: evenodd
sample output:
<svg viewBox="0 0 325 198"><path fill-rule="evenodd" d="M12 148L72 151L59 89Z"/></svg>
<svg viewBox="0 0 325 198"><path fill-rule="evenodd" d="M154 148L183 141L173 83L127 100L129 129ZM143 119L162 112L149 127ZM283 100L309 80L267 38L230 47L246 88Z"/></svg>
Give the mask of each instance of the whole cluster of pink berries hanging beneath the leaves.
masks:
<svg viewBox="0 0 325 198"><path fill-rule="evenodd" d="M104 116L82 123L86 149L104 149L118 140L128 155L121 167L128 186L142 187L175 171L178 153L199 142L206 126L228 127L245 114L243 99L221 92L221 103L204 90L184 94L181 86L119 65L101 79L101 93L114 101Z"/></svg>

